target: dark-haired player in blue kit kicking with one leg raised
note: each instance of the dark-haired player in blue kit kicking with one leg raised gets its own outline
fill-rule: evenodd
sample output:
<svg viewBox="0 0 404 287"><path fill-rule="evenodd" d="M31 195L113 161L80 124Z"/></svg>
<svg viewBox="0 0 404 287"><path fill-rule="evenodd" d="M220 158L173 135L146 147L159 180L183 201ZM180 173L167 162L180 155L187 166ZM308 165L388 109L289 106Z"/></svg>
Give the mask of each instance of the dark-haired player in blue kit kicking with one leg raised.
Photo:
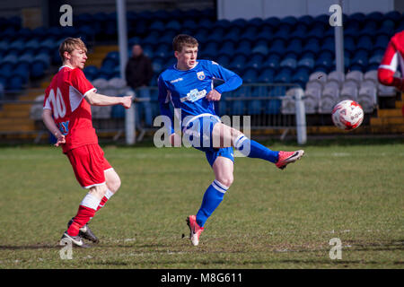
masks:
<svg viewBox="0 0 404 287"><path fill-rule="evenodd" d="M247 157L273 162L279 169L300 159L304 152L271 151L241 131L224 125L215 115L214 101L220 100L225 91L241 86L242 78L214 61L197 60L198 40L189 35L176 36L172 48L177 64L163 71L158 79L161 113L171 118L171 144L178 143L180 135L174 133L170 102L177 112L180 111L182 133L189 136L193 147L206 153L215 173L215 180L207 187L198 213L187 217L189 237L197 246L207 218L223 201L233 183L233 148ZM215 79L224 83L214 89Z"/></svg>

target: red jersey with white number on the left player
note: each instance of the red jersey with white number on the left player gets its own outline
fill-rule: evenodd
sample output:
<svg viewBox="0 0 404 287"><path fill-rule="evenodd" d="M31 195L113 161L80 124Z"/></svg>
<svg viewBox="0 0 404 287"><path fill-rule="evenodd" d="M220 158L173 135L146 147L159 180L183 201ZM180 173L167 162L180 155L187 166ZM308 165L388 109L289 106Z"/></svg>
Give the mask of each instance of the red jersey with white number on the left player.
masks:
<svg viewBox="0 0 404 287"><path fill-rule="evenodd" d="M43 109L51 109L60 132L66 136L63 152L84 144L98 143L92 127L91 105L85 94L95 91L79 68L62 66L45 91Z"/></svg>

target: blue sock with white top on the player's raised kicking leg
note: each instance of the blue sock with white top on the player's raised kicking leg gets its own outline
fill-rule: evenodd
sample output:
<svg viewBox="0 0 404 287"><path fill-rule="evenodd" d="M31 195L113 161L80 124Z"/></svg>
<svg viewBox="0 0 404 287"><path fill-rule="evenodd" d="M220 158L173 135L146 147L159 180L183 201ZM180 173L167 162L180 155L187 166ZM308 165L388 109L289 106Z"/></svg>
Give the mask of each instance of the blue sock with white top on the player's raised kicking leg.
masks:
<svg viewBox="0 0 404 287"><path fill-rule="evenodd" d="M239 135L235 139L233 146L236 150L242 152L243 155L249 158L262 159L273 163L277 163L279 158L279 152L271 151L268 147L250 140L245 135Z"/></svg>

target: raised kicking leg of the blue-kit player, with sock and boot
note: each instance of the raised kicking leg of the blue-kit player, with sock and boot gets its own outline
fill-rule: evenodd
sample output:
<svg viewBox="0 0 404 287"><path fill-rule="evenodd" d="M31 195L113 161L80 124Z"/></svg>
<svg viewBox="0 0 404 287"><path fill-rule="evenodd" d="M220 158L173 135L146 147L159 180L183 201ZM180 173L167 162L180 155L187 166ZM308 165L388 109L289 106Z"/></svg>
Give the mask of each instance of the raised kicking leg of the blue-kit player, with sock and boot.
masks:
<svg viewBox="0 0 404 287"><path fill-rule="evenodd" d="M258 158L275 163L277 168L281 170L285 169L287 164L299 160L304 154L303 150L295 152L272 151L268 147L249 139L241 131L223 123L215 124L212 136L214 143L219 144L215 147L233 146L249 158Z"/></svg>

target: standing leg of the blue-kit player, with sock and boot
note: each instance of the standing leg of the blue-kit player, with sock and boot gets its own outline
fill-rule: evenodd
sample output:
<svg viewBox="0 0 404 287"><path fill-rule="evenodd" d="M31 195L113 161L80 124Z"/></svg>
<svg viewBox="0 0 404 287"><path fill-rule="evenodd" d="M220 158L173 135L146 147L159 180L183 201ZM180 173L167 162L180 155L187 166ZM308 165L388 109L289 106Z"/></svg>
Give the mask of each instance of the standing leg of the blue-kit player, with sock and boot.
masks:
<svg viewBox="0 0 404 287"><path fill-rule="evenodd" d="M219 156L216 158L212 169L215 172L215 180L207 187L197 215L190 215L187 218L190 230L189 237L194 246L199 244L199 236L204 230L206 220L222 203L224 194L233 183L232 160Z"/></svg>

